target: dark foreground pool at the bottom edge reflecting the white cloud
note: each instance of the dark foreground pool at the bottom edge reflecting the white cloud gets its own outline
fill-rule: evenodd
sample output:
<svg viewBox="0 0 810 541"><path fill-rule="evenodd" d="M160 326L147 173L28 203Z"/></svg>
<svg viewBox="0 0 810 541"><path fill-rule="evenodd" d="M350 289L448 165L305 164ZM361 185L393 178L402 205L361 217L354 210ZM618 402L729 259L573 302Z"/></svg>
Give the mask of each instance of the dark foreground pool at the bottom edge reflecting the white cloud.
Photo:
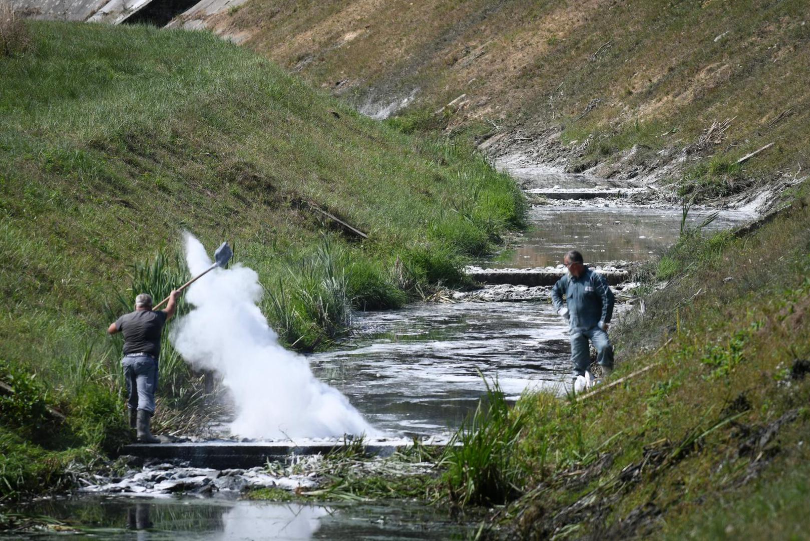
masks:
<svg viewBox="0 0 810 541"><path fill-rule="evenodd" d="M374 505L84 496L43 500L27 512L79 527L70 539L464 539L446 513L411 502ZM15 535L64 539L65 533Z"/></svg>

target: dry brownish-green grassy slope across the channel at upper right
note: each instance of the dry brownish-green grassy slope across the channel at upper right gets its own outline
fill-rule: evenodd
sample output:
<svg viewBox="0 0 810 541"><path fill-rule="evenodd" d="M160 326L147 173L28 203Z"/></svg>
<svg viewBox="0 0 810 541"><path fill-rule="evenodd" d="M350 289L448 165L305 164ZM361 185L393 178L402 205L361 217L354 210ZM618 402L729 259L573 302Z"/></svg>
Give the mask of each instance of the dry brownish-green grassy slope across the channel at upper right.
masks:
<svg viewBox="0 0 810 541"><path fill-rule="evenodd" d="M467 127L479 140L560 130L562 144L584 144L578 169L643 171L673 158L660 150L689 148L668 179L686 195L727 195L810 165L803 0L251 0L208 24L358 105L418 89L404 114L425 127ZM701 140L725 119L722 135Z"/></svg>

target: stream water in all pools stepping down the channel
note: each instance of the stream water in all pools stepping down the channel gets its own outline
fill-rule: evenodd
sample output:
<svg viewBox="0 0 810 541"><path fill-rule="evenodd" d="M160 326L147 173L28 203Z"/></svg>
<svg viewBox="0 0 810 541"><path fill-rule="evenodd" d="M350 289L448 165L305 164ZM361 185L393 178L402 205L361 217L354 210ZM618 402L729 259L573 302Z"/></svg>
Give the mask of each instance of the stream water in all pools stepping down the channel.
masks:
<svg viewBox="0 0 810 541"><path fill-rule="evenodd" d="M534 181L544 179L535 172ZM563 180L565 178L563 177ZM545 183L559 183L554 174ZM594 179L572 178L574 185ZM696 225L709 211L690 213ZM680 208L616 203L537 206L518 247L490 267L556 265L570 247L594 263L644 260L674 243ZM752 218L721 213L710 227ZM527 389L559 389L569 373L566 325L548 301L416 304L356 318L354 336L310 358L381 432L446 436L484 394L483 374L516 399ZM480 373L479 373L480 372ZM69 523L72 539L463 539L462 526L441 509L395 502L298 505L194 496L165 499L87 496L37 502L27 511ZM42 539L58 534L25 535Z"/></svg>

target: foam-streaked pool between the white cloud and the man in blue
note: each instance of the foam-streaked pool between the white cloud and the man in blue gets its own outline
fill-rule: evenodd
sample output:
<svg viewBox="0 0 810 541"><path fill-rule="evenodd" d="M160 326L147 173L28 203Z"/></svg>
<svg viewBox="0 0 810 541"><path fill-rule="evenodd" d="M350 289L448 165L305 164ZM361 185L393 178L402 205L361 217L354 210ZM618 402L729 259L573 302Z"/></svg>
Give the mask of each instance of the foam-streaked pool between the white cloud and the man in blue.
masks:
<svg viewBox="0 0 810 541"><path fill-rule="evenodd" d="M458 427L485 393L479 371L517 397L569 370L567 326L550 303L418 304L356 323L342 348L310 357L313 371L400 435Z"/></svg>

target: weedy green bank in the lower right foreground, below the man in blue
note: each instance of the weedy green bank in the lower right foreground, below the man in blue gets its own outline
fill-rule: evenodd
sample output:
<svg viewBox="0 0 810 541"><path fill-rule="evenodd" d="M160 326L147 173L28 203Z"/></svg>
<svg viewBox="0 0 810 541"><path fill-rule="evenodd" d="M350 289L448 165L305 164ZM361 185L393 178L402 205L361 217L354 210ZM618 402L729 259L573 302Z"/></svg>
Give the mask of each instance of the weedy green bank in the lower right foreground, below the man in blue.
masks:
<svg viewBox="0 0 810 541"><path fill-rule="evenodd" d="M579 400L528 394L506 420L490 410L446 459L451 497L508 504L498 517L529 539L802 537L808 220L805 183L752 234L684 234L647 269L667 287L616 328L611 380L626 380Z"/></svg>

